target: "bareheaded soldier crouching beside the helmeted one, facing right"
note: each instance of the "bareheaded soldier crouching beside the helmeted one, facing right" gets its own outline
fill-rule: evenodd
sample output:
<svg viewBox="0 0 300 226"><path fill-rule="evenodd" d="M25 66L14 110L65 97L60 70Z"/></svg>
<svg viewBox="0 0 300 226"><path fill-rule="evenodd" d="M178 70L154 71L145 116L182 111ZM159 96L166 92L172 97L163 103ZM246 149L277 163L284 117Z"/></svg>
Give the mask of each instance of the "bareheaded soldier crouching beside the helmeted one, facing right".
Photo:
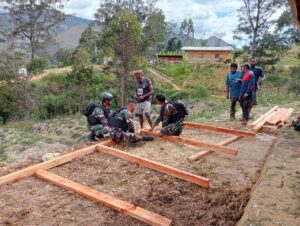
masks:
<svg viewBox="0 0 300 226"><path fill-rule="evenodd" d="M111 128L110 137L117 142L129 141L153 141L151 136L139 136L135 133L133 125L133 113L136 108L135 101L129 101L127 108L120 108L113 112L109 119L108 124Z"/></svg>

